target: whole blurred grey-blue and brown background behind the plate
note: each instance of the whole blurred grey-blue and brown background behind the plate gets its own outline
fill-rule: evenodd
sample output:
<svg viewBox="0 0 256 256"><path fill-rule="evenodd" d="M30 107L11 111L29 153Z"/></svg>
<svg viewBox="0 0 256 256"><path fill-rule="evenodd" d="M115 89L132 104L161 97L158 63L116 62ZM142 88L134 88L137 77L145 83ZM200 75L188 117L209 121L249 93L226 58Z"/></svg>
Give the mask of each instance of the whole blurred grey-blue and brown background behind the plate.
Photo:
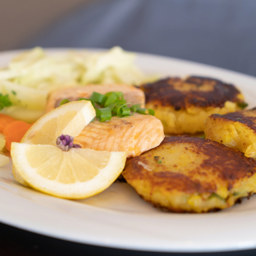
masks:
<svg viewBox="0 0 256 256"><path fill-rule="evenodd" d="M256 76L255 0L2 0L0 32L2 51L120 45Z"/></svg>

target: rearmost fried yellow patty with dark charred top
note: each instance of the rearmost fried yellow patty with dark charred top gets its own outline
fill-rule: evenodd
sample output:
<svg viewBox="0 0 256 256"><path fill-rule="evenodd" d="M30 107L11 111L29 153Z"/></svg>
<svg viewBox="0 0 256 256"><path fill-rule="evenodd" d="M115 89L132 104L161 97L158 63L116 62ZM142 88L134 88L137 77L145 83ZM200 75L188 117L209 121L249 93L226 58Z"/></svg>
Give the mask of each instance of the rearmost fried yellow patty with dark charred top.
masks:
<svg viewBox="0 0 256 256"><path fill-rule="evenodd" d="M207 77L170 77L141 85L146 107L155 110L165 133L195 134L203 131L205 119L243 107L243 95L234 86Z"/></svg>

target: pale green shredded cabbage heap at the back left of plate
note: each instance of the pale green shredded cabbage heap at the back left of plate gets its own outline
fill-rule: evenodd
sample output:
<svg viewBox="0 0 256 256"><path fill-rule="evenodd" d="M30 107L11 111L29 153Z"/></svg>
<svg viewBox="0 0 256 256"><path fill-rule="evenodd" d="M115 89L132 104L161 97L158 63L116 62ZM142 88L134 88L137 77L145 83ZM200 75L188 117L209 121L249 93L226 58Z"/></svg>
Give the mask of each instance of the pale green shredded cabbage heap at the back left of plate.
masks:
<svg viewBox="0 0 256 256"><path fill-rule="evenodd" d="M48 54L41 47L25 51L0 70L0 93L8 95L12 103L1 113L32 123L45 113L52 90L91 83L138 85L152 80L135 66L135 57L121 47L104 52Z"/></svg>

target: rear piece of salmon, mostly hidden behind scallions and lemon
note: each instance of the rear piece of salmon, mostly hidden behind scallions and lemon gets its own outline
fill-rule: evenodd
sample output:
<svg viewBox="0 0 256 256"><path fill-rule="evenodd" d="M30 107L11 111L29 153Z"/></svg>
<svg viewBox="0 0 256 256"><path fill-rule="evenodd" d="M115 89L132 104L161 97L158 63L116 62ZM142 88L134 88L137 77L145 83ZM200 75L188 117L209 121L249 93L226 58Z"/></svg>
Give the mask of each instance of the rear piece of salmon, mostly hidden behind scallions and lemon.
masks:
<svg viewBox="0 0 256 256"><path fill-rule="evenodd" d="M86 85L79 87L71 87L58 89L49 94L47 99L46 111L49 112L55 107L59 107L63 99L69 99L69 101L76 101L80 98L89 99L93 94L96 93L109 93L111 91L121 91L124 99L127 103L133 104L144 104L145 95L141 89L138 89L129 85Z"/></svg>

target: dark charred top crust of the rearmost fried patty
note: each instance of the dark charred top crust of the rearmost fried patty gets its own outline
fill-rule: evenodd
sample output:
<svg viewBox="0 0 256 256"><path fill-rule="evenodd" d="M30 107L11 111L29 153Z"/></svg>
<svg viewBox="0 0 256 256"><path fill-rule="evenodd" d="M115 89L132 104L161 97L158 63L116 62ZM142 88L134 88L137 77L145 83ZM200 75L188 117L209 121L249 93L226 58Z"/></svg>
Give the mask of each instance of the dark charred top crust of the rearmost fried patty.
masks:
<svg viewBox="0 0 256 256"><path fill-rule="evenodd" d="M226 101L243 102L240 91L231 84L208 77L169 77L141 85L146 103L172 106L176 111L188 107L224 107Z"/></svg>

